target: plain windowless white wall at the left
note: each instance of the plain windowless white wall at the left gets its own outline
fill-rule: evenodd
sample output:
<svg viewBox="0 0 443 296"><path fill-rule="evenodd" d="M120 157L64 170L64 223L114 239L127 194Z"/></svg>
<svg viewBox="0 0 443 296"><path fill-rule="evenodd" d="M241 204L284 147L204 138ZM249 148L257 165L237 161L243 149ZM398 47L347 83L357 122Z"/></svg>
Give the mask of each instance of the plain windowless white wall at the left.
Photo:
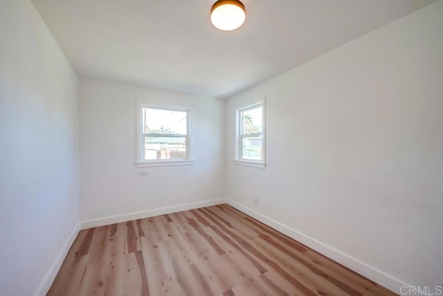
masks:
<svg viewBox="0 0 443 296"><path fill-rule="evenodd" d="M2 0L0 295L46 293L76 229L78 78L30 1Z"/></svg>

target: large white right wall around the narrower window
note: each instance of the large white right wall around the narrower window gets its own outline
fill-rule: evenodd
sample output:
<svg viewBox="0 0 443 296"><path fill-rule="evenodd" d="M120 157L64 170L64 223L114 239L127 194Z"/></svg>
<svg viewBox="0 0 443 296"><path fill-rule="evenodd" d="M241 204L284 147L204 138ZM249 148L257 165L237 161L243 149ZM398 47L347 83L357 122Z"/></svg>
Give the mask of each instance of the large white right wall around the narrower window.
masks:
<svg viewBox="0 0 443 296"><path fill-rule="evenodd" d="M235 166L235 109L264 96L269 166ZM226 112L228 198L399 281L442 284L443 1L230 98Z"/></svg>

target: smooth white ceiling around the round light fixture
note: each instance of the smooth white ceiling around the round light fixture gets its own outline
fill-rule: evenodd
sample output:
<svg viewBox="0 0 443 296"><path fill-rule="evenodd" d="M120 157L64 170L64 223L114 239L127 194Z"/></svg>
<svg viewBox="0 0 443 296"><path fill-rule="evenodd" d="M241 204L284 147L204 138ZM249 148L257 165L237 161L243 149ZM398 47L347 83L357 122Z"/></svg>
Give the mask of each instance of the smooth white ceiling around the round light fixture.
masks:
<svg viewBox="0 0 443 296"><path fill-rule="evenodd" d="M434 0L243 0L237 31L215 0L32 0L75 71L226 98Z"/></svg>

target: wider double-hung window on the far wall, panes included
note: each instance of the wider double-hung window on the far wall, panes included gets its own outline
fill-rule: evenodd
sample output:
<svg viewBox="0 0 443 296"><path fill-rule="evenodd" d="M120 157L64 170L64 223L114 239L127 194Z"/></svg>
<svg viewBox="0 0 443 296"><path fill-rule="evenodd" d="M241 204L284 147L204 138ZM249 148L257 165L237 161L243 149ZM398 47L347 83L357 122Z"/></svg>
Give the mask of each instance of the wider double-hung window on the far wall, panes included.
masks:
<svg viewBox="0 0 443 296"><path fill-rule="evenodd" d="M190 109L140 106L138 166L190 164Z"/></svg>

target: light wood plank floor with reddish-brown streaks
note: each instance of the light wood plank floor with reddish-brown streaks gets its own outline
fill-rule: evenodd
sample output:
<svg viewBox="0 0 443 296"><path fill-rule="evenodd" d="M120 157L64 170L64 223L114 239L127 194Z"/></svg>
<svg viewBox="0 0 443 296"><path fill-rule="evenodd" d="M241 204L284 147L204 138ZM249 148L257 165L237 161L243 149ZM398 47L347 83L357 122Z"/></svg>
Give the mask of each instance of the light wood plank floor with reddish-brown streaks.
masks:
<svg viewBox="0 0 443 296"><path fill-rule="evenodd" d="M48 295L395 295L227 204L84 229Z"/></svg>

